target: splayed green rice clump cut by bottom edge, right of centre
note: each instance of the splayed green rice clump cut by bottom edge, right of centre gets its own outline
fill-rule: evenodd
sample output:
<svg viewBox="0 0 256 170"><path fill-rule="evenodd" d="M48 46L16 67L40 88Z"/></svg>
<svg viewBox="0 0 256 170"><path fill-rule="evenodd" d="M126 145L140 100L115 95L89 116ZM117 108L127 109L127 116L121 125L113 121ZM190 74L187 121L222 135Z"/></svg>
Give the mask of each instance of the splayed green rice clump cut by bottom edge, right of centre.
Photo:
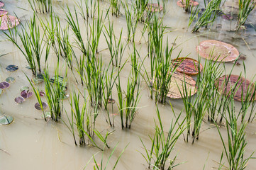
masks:
<svg viewBox="0 0 256 170"><path fill-rule="evenodd" d="M182 123L178 122L180 116L182 115L181 113L179 113L176 120L172 120L170 123L169 131L167 132L166 136L166 132L164 131L164 127L162 125L160 112L157 107L157 118L159 125L157 125L155 122L155 135L154 137L150 137L150 149L147 149L144 142L140 139L143 144L143 149L145 150L145 154L141 154L148 163L148 169L173 169L175 166L179 165L175 164L177 155L173 159L170 159L169 156L172 154L179 136L182 135L182 132L184 132L186 129L186 125L184 124L186 118L182 120Z"/></svg>

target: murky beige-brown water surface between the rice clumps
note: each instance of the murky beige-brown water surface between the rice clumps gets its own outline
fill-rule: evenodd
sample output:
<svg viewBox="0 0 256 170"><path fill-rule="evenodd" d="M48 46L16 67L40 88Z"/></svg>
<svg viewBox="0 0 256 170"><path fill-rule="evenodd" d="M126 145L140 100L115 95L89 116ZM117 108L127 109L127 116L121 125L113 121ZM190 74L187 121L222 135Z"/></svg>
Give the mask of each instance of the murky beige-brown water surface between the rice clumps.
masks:
<svg viewBox="0 0 256 170"><path fill-rule="evenodd" d="M30 16L33 15L28 4L25 0L14 1L9 0L6 2L6 10L9 11L11 15L16 13L17 16L21 18L21 22L29 20ZM61 22L63 26L66 25L62 9L65 8L65 3L69 6L73 6L74 3L70 1L57 1L54 3L55 11L60 15ZM101 6L104 10L108 8L109 4L104 1L101 2ZM201 8L204 6L202 5ZM238 33L230 31L233 29L234 23L230 21L224 21L220 17L217 19L216 23L213 24L211 30L201 30L200 33L190 33L187 29L187 23L189 21L187 13L184 13L182 8L176 5L176 1L168 1L167 3L167 13L164 18L164 23L171 27L172 32L167 33L166 36L169 38L169 44L177 38L177 50L174 51L174 57L182 50L182 57L189 55L189 57L197 59L197 54L195 47L202 40L216 39L223 40L233 44L238 50L246 55L245 60L246 66L246 77L247 79L252 79L255 74L255 30L252 27L247 28L247 30L241 30ZM252 16L254 16L253 13ZM43 15L40 15L43 16ZM114 23L114 30L116 33L121 32L123 28L123 42L126 40L126 21L125 16L110 17L111 21ZM253 17L249 18L250 22L253 22ZM253 23L255 24L255 22ZM231 26L231 28L230 28ZM20 28L20 27L18 27ZM147 54L147 48L145 41L147 38L143 38L139 42L141 33L143 30L143 25L139 24L138 31L136 33L136 46L140 50L140 56L144 57ZM70 31L71 33L71 31ZM85 34L85 31L84 31ZM114 152L111 160L108 164L107 169L115 164L118 155L127 146L125 152L118 162L117 169L147 169L147 164L145 159L141 156L140 152L145 154L143 151L143 145L140 139L145 142L145 146L150 148L150 138L154 134L154 119L157 119L155 110L155 102L149 98L150 91L148 90L145 82L141 84L141 99L139 103L138 115L135 118L130 130L121 130L121 121L118 115L115 117L115 128L109 127L106 123L106 115L104 112L99 114L96 120L96 128L103 135L106 132L111 132L115 130L108 137L108 145L111 149L105 149L102 156L102 152L95 147L76 147L71 133L67 129L64 123L55 123L52 120L47 123L41 118L41 112L34 109L34 104L36 102L35 96L26 100L26 102L18 105L14 102L14 98L19 96L19 89L21 86L29 86L29 83L24 75L27 74L31 77L31 72L25 67L27 62L21 52L17 50L10 42L6 41L6 38L1 33L0 36L0 80L4 81L6 77L14 77L16 81L11 84L9 89L6 89L0 97L0 113L1 115L12 115L14 122L11 125L0 127L0 169L92 169L94 166L93 161L89 162L92 155L96 154L96 159L100 162L101 157L104 157L104 164L111 154L112 149L117 145L116 151ZM131 47L131 45L129 45ZM99 50L103 50L101 55L104 62L108 62L109 54L104 40L104 35L101 34L101 42ZM78 52L78 50L77 50ZM126 55L123 60L129 57L129 50L126 49ZM54 67L56 62L56 57L52 53L50 56L50 67ZM128 60L129 62L129 60ZM145 63L150 61L145 60ZM204 62L204 59L201 60ZM5 67L9 64L18 65L19 69L17 72L6 72ZM146 64L147 65L147 64ZM230 69L232 64L227 64L227 69ZM150 67L147 67L150 68ZM243 71L243 66L235 66L233 74L240 74ZM129 64L123 69L121 74L121 81L125 88L126 79L130 72ZM69 74L72 75L72 74ZM78 75L77 75L78 77ZM69 88L72 89L74 86L74 78L70 76ZM77 85L79 88L82 86ZM113 98L116 98L116 94L113 94ZM43 99L45 101L45 99ZM168 103L172 103L174 106L175 113L179 113L182 110L183 103L182 100L169 100ZM65 101L65 108L70 111L68 101ZM240 105L240 103L235 103ZM172 108L169 104L165 106L159 105L160 113L162 116L162 123L167 131L169 128L169 123L172 118L174 118L172 113ZM113 106L113 113L117 113L118 108L116 105ZM68 112L69 113L69 112ZM184 113L182 114L184 118ZM63 119L67 121L65 115ZM256 150L256 123L250 123L247 125L247 148L245 152L245 157L250 156L250 154ZM223 138L226 139L226 130L221 128ZM221 157L221 152L223 151L223 145L221 144L221 139L218 135L214 125L211 125L207 121L203 123L201 128L201 134L199 140L191 144L191 139L188 143L184 142L181 136L175 145L175 149L172 152L171 159L177 154L176 163L183 164L177 166L175 169L213 169L218 167L218 163ZM226 159L225 159L226 161ZM256 163L250 160L247 169L256 169Z"/></svg>

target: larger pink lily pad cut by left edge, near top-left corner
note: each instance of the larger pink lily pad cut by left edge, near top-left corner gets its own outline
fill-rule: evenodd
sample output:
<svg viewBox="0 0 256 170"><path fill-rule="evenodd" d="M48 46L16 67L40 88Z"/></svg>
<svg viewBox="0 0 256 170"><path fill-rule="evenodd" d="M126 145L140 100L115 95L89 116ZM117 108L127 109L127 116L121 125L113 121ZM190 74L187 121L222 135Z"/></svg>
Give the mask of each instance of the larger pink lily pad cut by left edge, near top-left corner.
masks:
<svg viewBox="0 0 256 170"><path fill-rule="evenodd" d="M18 21L18 18L16 18L15 16L1 16L0 21L0 30L8 30L9 28L14 28L20 23Z"/></svg>

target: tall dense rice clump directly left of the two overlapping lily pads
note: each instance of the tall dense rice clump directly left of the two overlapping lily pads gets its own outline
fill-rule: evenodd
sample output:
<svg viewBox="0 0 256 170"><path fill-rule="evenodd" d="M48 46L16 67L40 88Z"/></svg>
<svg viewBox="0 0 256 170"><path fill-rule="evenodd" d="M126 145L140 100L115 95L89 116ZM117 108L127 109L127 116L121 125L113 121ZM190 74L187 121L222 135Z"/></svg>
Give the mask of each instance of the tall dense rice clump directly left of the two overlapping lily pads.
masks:
<svg viewBox="0 0 256 170"><path fill-rule="evenodd" d="M159 20L157 14L153 14L152 23L148 23L148 55L150 57L150 74L145 72L148 79L148 87L150 88L150 98L153 97L155 90L155 103L165 103L169 91L172 74L177 69L177 64L172 64L172 47L168 46L168 39L166 45L163 45L163 35L165 27L162 26L162 19ZM181 52L177 55L180 56ZM145 66L144 66L145 67Z"/></svg>

